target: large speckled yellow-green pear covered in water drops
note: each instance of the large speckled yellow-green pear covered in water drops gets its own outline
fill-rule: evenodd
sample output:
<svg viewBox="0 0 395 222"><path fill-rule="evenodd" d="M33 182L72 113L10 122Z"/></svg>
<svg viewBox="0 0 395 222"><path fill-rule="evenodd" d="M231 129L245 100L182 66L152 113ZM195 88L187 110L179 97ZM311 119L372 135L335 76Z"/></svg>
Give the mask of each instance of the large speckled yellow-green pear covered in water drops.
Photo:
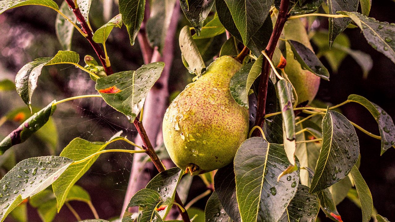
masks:
<svg viewBox="0 0 395 222"><path fill-rule="evenodd" d="M231 163L248 134L248 110L229 91L241 64L217 58L167 108L163 138L171 160L186 172L201 174Z"/></svg>

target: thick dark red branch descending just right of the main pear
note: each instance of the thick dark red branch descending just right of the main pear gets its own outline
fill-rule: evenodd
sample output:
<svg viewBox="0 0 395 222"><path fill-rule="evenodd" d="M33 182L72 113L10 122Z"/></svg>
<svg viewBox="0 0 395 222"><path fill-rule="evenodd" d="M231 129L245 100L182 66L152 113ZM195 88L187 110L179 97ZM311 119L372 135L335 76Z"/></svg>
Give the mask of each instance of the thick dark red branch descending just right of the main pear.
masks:
<svg viewBox="0 0 395 222"><path fill-rule="evenodd" d="M269 43L267 44L265 49L265 52L270 59L273 58L273 53L276 49L278 39L280 38L282 29L284 28L284 24L289 17L288 14L289 2L290 0L281 0L280 11L278 12L277 21L273 28L273 32L271 34ZM258 89L258 106L257 106L256 121L255 121L255 125L260 126L261 128L263 128L263 121L264 121L263 117L265 116L267 83L269 81L269 75L270 75L270 64L267 60L265 60L262 66L261 79ZM254 131L252 136L259 136L259 134L260 134L259 131Z"/></svg>

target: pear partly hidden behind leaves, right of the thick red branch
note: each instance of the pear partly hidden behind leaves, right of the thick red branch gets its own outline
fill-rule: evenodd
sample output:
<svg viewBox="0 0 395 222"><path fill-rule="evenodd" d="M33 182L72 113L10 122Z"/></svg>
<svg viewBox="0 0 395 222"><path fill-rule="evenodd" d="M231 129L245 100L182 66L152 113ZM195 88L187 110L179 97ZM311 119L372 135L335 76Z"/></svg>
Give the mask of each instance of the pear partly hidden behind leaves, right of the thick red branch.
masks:
<svg viewBox="0 0 395 222"><path fill-rule="evenodd" d="M299 41L313 51L304 23L300 19L291 19L284 26L284 36L287 40ZM294 58L291 46L286 42L285 73L288 75L298 96L298 103L308 101L311 103L320 87L320 77L314 73L303 70L299 62Z"/></svg>

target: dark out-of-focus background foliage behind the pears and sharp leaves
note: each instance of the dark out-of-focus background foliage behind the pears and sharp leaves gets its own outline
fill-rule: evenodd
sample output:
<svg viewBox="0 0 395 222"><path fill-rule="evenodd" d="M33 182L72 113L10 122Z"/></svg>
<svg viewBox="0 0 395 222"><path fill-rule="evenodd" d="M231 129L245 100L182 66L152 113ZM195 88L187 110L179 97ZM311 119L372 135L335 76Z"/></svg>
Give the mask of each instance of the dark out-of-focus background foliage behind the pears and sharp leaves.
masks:
<svg viewBox="0 0 395 222"><path fill-rule="evenodd" d="M61 4L59 0L56 2L58 5ZM103 6L106 9L104 11ZM395 2L392 0L373 1L370 17L393 23L395 22L394 9ZM90 24L94 30L119 13L117 2L112 0L93 0L90 10ZM4 79L13 81L17 71L27 62L35 58L53 56L58 50L62 50L55 35L55 18L56 13L53 10L41 6L24 6L0 15L0 81ZM178 31L184 25L190 24L182 15ZM354 52L361 51L371 56L373 63L368 73L355 60L355 58L360 59L360 63L365 68L369 68L370 60L363 57L365 54L359 53L355 56L353 53L344 53L344 50L338 49L328 52L325 48L327 46L321 44L322 39L326 38L327 40L327 37L323 36L321 32L325 31L327 26L326 21L315 22L310 30L314 50L319 52L318 55L322 56L322 61L332 73L329 82L321 81L316 98L322 102L337 104L346 100L350 94L359 94L378 104L394 118L395 64L386 56L372 49L357 28L347 29L344 32L345 35L340 36L338 41L343 47L349 46ZM219 52L220 46L225 40L225 35L216 37L208 44L207 50L201 52L203 57L207 58L207 63ZM174 41L178 46L178 39L175 38ZM207 40L203 40L201 43L207 43ZM71 48L81 56L95 55L89 43L77 32L73 36ZM138 42L136 41L133 47L130 45L124 26L121 29L113 30L107 40L107 51L115 72L135 70L143 64ZM169 79L170 99L174 98L187 83L191 82L193 77L184 68L178 47L175 47L174 53L175 59ZM70 96L95 93L94 82L88 75L73 66L49 66L43 70L32 99L32 104L37 108L44 107L54 99L60 100ZM0 117L7 117L7 120L2 119L6 122L1 127L0 139L19 126L22 116L15 116L14 111L19 108L24 110L23 112L27 111L26 105L15 90L0 92ZM129 138L134 138L136 135L132 124L129 124L122 114L106 105L100 98L63 103L57 109L58 111L52 117L53 121L49 122L39 133L0 156L1 176L16 162L23 159L33 156L58 155L75 137L89 141L106 141L120 130L123 130L122 135L127 135ZM12 113L13 111L14 113ZM359 107L356 103L349 103L342 107L342 111L351 121L378 134L377 124L366 109ZM26 115L27 118L28 113ZM392 190L395 187L395 161L393 161L395 150L389 149L380 157L380 151L377 149L380 147L380 141L372 139L358 130L357 134L361 147L360 171L371 189L374 206L379 214L386 215L390 221L394 221L395 192ZM124 143L115 143L111 146L127 147ZM130 154L103 154L77 182L90 194L100 218L119 216L131 165L132 156ZM154 175L156 172L149 173ZM194 178L192 183L194 186L191 187L188 200L205 190L205 185L199 177ZM205 201L207 198L200 200L195 206L203 209ZM86 203L71 201L70 204L78 211L82 219L93 218ZM30 204L26 204L26 207L28 221L41 221L36 209ZM361 220L359 208L349 199L340 203L338 210L344 221ZM21 218L18 220L18 216L15 215L8 217L6 221L20 221ZM320 216L322 221L329 221L323 215ZM54 221L75 221L75 218L67 207L63 207Z"/></svg>

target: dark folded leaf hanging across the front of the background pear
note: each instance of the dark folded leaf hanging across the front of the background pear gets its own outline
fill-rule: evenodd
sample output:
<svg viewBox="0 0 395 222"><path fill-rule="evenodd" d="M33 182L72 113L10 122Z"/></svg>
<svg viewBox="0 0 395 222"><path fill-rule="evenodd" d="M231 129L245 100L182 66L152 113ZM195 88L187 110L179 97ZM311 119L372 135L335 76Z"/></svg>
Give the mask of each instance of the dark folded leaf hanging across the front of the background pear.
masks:
<svg viewBox="0 0 395 222"><path fill-rule="evenodd" d="M322 79L329 81L329 71L317 58L314 52L298 41L288 40L288 43L290 43L293 55L301 64L302 68L305 68Z"/></svg>

